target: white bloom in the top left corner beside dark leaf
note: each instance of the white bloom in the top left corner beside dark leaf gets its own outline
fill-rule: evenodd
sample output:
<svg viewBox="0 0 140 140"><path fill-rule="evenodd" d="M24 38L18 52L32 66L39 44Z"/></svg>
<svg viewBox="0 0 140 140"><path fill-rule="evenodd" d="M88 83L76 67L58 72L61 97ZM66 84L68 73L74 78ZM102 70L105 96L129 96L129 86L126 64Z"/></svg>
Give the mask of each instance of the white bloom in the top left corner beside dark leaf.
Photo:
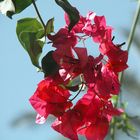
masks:
<svg viewBox="0 0 140 140"><path fill-rule="evenodd" d="M0 12L6 15L8 11L15 12L15 6L12 0L4 0L0 2Z"/></svg>

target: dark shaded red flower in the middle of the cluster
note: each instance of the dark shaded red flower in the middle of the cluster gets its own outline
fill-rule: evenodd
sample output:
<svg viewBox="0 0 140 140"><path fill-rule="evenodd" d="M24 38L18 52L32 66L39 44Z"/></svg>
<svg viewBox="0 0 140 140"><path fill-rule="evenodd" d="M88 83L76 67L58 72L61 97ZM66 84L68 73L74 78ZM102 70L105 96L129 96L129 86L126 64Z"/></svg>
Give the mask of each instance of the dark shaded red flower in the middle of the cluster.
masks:
<svg viewBox="0 0 140 140"><path fill-rule="evenodd" d="M74 56L72 51L75 51L78 58ZM81 74L88 61L86 48L79 47L73 49L60 47L53 52L53 58L60 66L59 72L64 79L73 79Z"/></svg>

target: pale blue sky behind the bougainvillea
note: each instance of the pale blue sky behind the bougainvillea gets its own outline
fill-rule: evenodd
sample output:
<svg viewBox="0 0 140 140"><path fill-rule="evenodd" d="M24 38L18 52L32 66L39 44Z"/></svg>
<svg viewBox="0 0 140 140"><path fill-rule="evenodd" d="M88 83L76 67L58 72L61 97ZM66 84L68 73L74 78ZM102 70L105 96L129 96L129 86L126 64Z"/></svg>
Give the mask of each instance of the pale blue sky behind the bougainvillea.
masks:
<svg viewBox="0 0 140 140"><path fill-rule="evenodd" d="M132 17L136 9L135 0L70 0L82 15L94 11L97 15L105 15L107 24L114 28L116 42L127 41L123 29L130 29ZM53 0L38 0L37 5L43 19L55 17L55 31L64 26L64 12ZM34 112L29 104L29 97L34 93L37 83L43 79L43 74L37 73L30 59L21 47L15 33L16 22L23 17L36 17L33 6L21 14L15 15L13 20L0 15L0 139L1 140L54 140L58 133L54 132L49 123L34 124L23 120L18 126L13 126L16 118L24 113ZM89 44L90 45L90 44ZM125 46L126 47L126 46ZM47 51L49 46L45 46ZM130 71L140 68L133 63L138 59L137 52L132 49L130 53ZM34 124L34 127L31 125Z"/></svg>

